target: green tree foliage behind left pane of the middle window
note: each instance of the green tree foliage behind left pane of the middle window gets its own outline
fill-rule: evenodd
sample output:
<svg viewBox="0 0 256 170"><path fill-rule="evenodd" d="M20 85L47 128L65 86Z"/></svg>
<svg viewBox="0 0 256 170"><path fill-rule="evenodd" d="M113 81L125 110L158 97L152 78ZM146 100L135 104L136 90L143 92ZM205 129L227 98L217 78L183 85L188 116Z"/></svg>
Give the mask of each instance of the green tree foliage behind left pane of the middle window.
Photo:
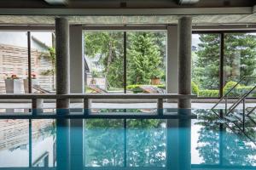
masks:
<svg viewBox="0 0 256 170"><path fill-rule="evenodd" d="M99 55L98 65L104 66L103 75L108 85L123 88L123 33L88 32L84 34L84 52L90 58Z"/></svg>

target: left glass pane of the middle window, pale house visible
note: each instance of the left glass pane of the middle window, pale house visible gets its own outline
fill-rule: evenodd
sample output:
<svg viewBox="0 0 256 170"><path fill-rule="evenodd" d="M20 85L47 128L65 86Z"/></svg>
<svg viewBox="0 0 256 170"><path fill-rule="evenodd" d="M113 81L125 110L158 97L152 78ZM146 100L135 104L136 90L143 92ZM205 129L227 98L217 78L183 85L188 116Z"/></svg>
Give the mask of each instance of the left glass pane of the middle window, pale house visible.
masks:
<svg viewBox="0 0 256 170"><path fill-rule="evenodd" d="M123 32L85 32L86 93L124 93Z"/></svg>

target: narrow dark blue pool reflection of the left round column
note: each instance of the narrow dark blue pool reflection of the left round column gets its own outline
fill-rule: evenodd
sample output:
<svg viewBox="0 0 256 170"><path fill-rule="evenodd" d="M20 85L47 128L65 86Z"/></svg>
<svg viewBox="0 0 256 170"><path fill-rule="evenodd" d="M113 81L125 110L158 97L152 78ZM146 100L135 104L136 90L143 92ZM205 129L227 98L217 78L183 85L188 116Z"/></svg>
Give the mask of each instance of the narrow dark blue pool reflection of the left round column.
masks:
<svg viewBox="0 0 256 170"><path fill-rule="evenodd" d="M56 119L56 166L57 170L70 169L70 120Z"/></svg>

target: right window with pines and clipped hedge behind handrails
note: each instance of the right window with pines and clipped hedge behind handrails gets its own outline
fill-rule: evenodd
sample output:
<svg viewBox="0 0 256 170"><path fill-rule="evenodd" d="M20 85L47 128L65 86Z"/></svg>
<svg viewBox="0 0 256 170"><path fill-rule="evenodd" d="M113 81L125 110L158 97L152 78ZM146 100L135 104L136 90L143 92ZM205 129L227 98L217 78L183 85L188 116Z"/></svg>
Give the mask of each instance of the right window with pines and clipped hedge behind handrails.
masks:
<svg viewBox="0 0 256 170"><path fill-rule="evenodd" d="M218 98L243 77L230 97L239 97L251 90L256 85L253 78L256 74L255 54L255 33L193 34L192 93L199 97Z"/></svg>

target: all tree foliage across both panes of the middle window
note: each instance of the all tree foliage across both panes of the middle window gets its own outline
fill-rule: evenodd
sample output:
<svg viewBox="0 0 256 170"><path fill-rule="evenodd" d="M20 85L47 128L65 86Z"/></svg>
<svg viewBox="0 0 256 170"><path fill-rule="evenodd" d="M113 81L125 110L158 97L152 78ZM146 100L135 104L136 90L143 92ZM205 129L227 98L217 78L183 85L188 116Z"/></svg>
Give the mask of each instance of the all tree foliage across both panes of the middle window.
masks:
<svg viewBox="0 0 256 170"><path fill-rule="evenodd" d="M127 33L127 82L148 84L152 77L164 77L165 34L158 32ZM108 85L123 88L124 39L123 32L90 32L84 34L85 54L99 58L96 65L102 65L102 77Z"/></svg>

